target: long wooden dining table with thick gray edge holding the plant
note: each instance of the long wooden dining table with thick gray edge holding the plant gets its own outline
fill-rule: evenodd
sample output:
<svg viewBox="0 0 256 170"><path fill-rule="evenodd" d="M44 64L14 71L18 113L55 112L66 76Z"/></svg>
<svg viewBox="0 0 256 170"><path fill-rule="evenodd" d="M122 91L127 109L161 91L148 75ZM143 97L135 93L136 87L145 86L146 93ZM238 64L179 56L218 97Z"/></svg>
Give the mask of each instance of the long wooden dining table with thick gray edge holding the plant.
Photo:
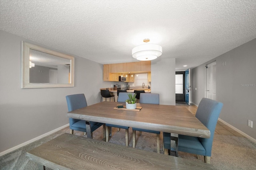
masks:
<svg viewBox="0 0 256 170"><path fill-rule="evenodd" d="M180 135L210 138L210 131L184 106L140 104L140 111L114 109L124 102L100 102L69 111L67 117L86 121L87 137L92 138L89 121L136 127Z"/></svg>

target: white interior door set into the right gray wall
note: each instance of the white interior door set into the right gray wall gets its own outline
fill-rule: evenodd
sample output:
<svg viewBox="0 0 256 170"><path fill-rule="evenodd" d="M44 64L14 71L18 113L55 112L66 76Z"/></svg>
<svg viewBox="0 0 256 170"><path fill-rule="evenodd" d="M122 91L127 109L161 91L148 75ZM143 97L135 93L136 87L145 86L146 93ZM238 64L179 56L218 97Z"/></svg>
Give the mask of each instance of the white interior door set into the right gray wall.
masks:
<svg viewBox="0 0 256 170"><path fill-rule="evenodd" d="M206 98L216 100L216 61L206 66Z"/></svg>

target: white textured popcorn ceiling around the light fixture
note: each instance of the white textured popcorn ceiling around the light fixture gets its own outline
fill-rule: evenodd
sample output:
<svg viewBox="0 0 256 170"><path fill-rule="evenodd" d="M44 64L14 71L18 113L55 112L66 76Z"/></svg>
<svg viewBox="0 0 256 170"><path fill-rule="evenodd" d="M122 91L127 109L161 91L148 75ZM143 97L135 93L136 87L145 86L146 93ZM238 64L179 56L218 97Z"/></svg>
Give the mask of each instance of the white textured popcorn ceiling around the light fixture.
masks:
<svg viewBox="0 0 256 170"><path fill-rule="evenodd" d="M0 0L0 29L101 64L149 38L184 70L256 38L256 0Z"/></svg>

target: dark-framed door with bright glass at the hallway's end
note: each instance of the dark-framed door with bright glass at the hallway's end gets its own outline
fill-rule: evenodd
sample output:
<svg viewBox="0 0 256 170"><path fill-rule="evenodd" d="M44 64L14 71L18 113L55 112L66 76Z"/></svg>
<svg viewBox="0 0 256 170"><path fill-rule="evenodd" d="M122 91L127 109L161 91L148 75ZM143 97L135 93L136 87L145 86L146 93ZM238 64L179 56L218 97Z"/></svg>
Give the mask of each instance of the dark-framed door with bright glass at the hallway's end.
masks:
<svg viewBox="0 0 256 170"><path fill-rule="evenodd" d="M175 75L176 102L185 102L185 72L177 71Z"/></svg>

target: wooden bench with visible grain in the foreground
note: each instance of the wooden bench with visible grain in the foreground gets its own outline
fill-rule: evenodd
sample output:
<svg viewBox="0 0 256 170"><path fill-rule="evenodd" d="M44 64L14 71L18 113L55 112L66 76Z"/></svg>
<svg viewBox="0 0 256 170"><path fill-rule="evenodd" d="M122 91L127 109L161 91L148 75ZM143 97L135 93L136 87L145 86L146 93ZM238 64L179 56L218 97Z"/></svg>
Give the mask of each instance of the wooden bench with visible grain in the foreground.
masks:
<svg viewBox="0 0 256 170"><path fill-rule="evenodd" d="M64 133L26 153L45 167L60 170L214 169L211 164L147 152Z"/></svg>

